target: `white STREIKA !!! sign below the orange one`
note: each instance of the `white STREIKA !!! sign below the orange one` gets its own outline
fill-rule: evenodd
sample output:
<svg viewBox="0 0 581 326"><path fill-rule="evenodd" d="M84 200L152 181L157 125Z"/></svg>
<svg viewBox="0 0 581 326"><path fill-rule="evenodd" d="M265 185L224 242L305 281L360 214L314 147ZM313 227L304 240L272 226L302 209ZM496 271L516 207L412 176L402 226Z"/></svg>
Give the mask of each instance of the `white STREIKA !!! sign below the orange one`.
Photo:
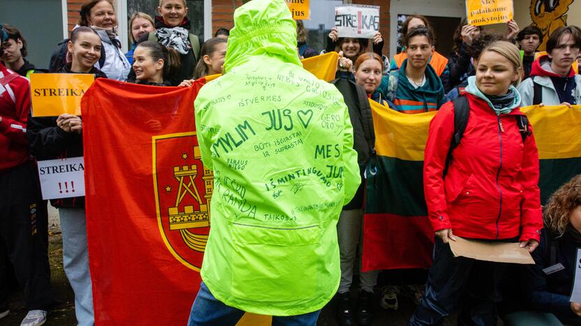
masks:
<svg viewBox="0 0 581 326"><path fill-rule="evenodd" d="M38 161L43 199L84 196L83 157Z"/></svg>

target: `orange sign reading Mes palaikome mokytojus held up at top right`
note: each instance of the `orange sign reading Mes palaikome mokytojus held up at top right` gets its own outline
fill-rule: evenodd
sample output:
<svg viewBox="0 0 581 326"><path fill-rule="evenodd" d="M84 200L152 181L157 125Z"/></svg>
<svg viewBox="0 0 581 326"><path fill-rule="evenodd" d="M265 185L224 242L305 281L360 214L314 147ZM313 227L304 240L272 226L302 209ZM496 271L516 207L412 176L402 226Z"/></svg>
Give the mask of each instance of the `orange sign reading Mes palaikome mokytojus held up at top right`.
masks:
<svg viewBox="0 0 581 326"><path fill-rule="evenodd" d="M513 0L466 0L466 17L473 26L508 22L513 11Z"/></svg>

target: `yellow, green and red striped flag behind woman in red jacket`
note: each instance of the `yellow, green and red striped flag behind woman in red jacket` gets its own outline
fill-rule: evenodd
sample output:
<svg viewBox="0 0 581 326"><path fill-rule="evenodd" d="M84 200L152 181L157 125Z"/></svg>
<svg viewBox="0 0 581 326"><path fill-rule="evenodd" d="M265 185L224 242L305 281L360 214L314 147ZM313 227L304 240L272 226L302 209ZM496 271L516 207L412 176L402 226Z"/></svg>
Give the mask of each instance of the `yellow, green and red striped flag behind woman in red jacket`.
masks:
<svg viewBox="0 0 581 326"><path fill-rule="evenodd" d="M540 158L542 203L581 173L581 106L525 107ZM429 121L372 102L377 155L367 167L362 270L427 268L434 231L422 185Z"/></svg>

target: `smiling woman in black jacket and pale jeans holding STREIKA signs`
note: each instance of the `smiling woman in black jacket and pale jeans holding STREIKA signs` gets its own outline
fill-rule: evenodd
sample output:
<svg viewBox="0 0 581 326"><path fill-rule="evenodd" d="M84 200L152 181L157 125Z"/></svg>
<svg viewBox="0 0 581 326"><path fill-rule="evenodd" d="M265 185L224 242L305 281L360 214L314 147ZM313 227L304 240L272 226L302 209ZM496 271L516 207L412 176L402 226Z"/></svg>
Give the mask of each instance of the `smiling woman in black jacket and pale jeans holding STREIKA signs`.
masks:
<svg viewBox="0 0 581 326"><path fill-rule="evenodd" d="M101 70L94 67L101 56L101 38L93 29L87 26L75 29L71 33L71 40L67 47L72 61L62 68L61 73L92 74L96 78L107 77ZM31 154L37 160L83 155L82 121L80 117L72 114L61 114L58 118L35 118L29 115L27 137ZM75 314L78 325L94 325L84 197L52 200L51 204L59 208L63 238L63 265L68 281L75 292Z"/></svg>

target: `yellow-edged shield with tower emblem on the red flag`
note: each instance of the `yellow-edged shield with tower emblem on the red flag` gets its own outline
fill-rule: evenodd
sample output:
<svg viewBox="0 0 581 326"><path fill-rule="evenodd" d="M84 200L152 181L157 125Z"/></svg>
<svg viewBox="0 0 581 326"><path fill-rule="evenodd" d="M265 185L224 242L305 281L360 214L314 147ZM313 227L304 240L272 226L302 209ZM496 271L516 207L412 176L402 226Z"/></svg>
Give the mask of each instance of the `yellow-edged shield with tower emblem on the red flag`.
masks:
<svg viewBox="0 0 581 326"><path fill-rule="evenodd" d="M199 272L209 234L214 175L202 164L196 132L156 136L152 146L161 238L179 262Z"/></svg>

